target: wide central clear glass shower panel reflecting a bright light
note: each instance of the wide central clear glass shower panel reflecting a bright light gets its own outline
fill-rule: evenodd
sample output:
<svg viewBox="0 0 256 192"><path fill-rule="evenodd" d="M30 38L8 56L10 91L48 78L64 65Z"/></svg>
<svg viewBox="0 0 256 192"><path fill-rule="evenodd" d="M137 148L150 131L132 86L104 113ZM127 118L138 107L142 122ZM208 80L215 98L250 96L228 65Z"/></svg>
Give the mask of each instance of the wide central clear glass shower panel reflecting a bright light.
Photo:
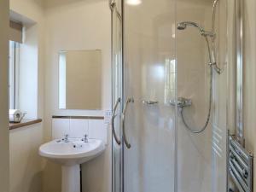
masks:
<svg viewBox="0 0 256 192"><path fill-rule="evenodd" d="M125 1L124 24L124 102L134 98L125 113L124 189L174 192L175 3Z"/></svg>

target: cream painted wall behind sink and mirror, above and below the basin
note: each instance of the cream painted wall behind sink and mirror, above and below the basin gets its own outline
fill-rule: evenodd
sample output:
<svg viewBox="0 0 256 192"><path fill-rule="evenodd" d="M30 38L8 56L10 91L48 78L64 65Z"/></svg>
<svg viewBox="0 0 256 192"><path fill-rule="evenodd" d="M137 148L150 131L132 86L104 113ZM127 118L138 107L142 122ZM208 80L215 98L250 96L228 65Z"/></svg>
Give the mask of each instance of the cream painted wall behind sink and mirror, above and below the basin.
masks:
<svg viewBox="0 0 256 192"><path fill-rule="evenodd" d="M104 115L103 110L60 110L58 108L58 52L60 50L102 49L102 108L111 108L111 16L106 0L49 0L46 1L45 7L44 139L49 141L53 114ZM111 141L110 138L109 135L108 141ZM83 185L83 190L86 192L111 191L110 142L104 154L83 165ZM60 191L61 166L47 161L44 164L44 192Z"/></svg>

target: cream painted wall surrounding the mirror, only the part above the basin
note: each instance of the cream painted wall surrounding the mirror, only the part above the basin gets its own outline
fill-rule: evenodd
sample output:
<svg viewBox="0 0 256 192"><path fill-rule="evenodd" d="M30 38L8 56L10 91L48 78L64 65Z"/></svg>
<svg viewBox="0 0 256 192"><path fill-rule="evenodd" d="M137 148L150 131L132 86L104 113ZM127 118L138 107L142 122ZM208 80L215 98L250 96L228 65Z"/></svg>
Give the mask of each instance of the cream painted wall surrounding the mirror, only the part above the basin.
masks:
<svg viewBox="0 0 256 192"><path fill-rule="evenodd" d="M62 3L61 3L62 2ZM57 3L57 7L55 7ZM103 110L58 108L58 52L61 49L102 49L102 108L111 108L111 36L108 1L47 1L45 47L45 139L50 119L60 115L104 115Z"/></svg>

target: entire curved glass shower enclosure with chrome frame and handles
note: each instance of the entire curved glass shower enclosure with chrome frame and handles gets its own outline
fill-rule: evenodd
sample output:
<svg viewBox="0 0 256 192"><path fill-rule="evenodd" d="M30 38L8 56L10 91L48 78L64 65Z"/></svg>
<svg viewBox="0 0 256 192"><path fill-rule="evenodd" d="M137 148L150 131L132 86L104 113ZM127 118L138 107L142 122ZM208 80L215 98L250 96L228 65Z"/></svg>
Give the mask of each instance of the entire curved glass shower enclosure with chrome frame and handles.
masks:
<svg viewBox="0 0 256 192"><path fill-rule="evenodd" d="M113 192L226 191L226 3L215 3L210 53L221 73L197 28L177 30L193 21L211 31L212 0L109 2ZM189 131L205 125L210 98L206 129Z"/></svg>

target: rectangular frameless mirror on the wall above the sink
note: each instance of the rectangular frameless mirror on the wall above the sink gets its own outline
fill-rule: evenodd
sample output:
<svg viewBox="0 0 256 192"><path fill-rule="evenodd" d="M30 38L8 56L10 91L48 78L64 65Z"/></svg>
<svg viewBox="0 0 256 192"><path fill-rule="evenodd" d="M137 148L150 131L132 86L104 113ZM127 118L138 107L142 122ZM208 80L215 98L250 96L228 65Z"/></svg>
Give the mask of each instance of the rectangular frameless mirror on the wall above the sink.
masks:
<svg viewBox="0 0 256 192"><path fill-rule="evenodd" d="M59 108L102 108L102 51L59 52Z"/></svg>

